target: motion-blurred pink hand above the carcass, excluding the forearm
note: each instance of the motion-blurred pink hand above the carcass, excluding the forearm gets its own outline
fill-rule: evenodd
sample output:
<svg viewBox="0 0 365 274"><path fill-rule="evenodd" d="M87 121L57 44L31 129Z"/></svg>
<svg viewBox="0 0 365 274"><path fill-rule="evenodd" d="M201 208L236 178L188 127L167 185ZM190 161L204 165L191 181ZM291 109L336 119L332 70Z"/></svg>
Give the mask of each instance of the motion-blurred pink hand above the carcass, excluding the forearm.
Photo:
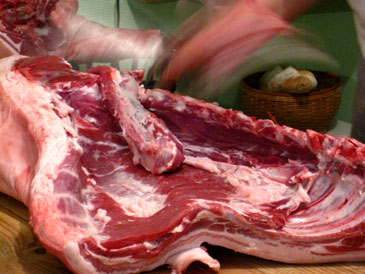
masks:
<svg viewBox="0 0 365 274"><path fill-rule="evenodd" d="M177 30L167 47L170 54L160 61L160 85L197 70L214 70L212 77L222 78L272 37L294 32L289 23L253 0L218 7L198 11Z"/></svg>

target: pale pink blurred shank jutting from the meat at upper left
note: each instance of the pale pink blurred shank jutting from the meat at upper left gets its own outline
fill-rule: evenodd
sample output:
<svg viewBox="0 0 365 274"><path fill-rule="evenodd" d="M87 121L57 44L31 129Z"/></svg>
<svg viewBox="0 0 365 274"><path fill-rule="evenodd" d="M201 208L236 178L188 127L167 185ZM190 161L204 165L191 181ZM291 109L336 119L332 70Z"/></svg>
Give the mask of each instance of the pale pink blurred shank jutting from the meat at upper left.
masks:
<svg viewBox="0 0 365 274"><path fill-rule="evenodd" d="M67 33L69 41L55 53L81 63L155 58L162 44L158 30L108 28L77 15Z"/></svg>

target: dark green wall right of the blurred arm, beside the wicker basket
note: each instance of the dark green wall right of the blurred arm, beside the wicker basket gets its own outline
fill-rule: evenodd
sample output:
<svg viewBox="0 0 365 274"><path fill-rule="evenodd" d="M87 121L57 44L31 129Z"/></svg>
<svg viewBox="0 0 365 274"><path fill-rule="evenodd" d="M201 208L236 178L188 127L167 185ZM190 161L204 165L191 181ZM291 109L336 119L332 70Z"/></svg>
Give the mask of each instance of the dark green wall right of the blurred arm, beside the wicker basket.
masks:
<svg viewBox="0 0 365 274"><path fill-rule="evenodd" d="M337 119L351 122L351 109L360 54L352 11L344 0L327 0L298 18L294 25L308 29L323 42L324 50L339 66L332 72L344 81L342 101Z"/></svg>

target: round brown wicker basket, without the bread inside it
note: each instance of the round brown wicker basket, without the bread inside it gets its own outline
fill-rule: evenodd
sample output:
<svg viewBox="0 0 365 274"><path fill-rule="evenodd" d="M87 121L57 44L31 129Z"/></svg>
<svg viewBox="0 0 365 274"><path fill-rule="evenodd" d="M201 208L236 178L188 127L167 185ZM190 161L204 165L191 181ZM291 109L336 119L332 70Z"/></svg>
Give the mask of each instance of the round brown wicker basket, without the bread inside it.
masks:
<svg viewBox="0 0 365 274"><path fill-rule="evenodd" d="M340 106L342 80L328 72L313 73L318 87L305 94L260 90L263 72L245 77L241 82L243 112L259 119L274 117L278 124L300 130L327 132Z"/></svg>

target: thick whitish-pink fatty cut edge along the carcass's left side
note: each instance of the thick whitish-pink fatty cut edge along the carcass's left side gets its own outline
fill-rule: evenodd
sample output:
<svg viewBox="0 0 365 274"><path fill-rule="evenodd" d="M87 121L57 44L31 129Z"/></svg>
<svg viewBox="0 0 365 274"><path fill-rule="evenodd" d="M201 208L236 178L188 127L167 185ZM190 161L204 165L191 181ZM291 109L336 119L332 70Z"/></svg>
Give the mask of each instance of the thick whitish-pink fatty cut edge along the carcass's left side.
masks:
<svg viewBox="0 0 365 274"><path fill-rule="evenodd" d="M14 188L23 193L22 197L16 198L28 206L34 233L50 253L59 255L70 238L77 238L77 233L65 234L68 227L55 214L58 205L53 197L54 182L67 155L81 155L82 151L68 117L72 109L56 94L30 83L21 74L12 71L13 65L22 58L25 57L14 56L0 61L0 77L6 79L2 81L2 91L12 99L13 106L17 106L17 113L22 115L38 154L34 177L27 182L28 188L22 192L16 186ZM14 92L14 89L21 92ZM56 220L57 225L53 220Z"/></svg>

